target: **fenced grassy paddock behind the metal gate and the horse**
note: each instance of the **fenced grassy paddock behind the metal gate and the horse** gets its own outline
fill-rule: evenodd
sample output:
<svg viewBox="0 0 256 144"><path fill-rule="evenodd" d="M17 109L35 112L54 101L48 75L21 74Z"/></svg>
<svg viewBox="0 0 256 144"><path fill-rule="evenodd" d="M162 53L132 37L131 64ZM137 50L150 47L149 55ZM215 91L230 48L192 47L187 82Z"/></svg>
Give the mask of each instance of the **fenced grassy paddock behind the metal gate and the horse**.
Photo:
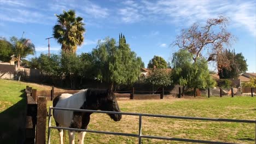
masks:
<svg viewBox="0 0 256 144"><path fill-rule="evenodd" d="M48 106L51 106L51 103L51 101L48 101ZM118 103L121 111L124 112L254 120L256 118L255 97L119 100ZM55 125L54 121L52 121L52 124ZM89 129L138 134L138 117L123 115L120 122L114 122L106 114L93 113ZM255 124L142 117L142 134L222 142L255 143ZM66 142L68 142L67 137L68 135L66 134ZM76 137L77 139L78 137ZM138 140L135 137L87 133L85 142L137 143ZM182 143L153 139L142 139L142 142ZM56 129L51 130L51 143L59 143L59 135Z"/></svg>

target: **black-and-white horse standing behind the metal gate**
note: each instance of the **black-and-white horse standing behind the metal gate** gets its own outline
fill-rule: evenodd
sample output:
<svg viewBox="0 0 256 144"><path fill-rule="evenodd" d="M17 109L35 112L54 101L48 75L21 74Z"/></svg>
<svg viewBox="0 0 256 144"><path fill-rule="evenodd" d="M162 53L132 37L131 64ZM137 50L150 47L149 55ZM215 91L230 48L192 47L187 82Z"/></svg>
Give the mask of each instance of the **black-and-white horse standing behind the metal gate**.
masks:
<svg viewBox="0 0 256 144"><path fill-rule="evenodd" d="M109 89L83 89L75 94L63 93L53 100L53 107L70 109L102 110L120 112L117 99ZM53 110L57 127L87 129L91 112ZM121 114L108 114L115 122L120 121ZM59 130L60 143L63 144L63 130ZM74 134L78 132L79 144L84 143L85 131L68 130L69 143L74 144Z"/></svg>

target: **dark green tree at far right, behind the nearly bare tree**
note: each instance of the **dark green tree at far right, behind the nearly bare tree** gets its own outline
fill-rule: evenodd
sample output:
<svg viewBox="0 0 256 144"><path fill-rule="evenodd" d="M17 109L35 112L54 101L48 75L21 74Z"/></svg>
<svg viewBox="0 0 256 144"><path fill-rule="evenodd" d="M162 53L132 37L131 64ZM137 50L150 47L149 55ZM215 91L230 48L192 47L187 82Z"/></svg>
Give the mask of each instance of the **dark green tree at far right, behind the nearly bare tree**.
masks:
<svg viewBox="0 0 256 144"><path fill-rule="evenodd" d="M235 53L235 51L225 50L224 55L229 59L229 66L222 67L218 70L220 79L237 79L240 74L247 71L247 63L242 53Z"/></svg>

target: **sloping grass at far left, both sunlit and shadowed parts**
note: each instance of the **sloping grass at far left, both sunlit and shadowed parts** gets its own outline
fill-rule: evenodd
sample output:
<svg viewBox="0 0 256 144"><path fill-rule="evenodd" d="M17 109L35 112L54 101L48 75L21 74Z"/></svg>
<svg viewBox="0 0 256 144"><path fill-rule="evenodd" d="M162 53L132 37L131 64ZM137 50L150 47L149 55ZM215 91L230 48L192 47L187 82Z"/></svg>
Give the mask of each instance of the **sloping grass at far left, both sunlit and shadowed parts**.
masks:
<svg viewBox="0 0 256 144"><path fill-rule="evenodd" d="M32 83L0 79L0 143L16 143L26 112L26 86L42 89Z"/></svg>

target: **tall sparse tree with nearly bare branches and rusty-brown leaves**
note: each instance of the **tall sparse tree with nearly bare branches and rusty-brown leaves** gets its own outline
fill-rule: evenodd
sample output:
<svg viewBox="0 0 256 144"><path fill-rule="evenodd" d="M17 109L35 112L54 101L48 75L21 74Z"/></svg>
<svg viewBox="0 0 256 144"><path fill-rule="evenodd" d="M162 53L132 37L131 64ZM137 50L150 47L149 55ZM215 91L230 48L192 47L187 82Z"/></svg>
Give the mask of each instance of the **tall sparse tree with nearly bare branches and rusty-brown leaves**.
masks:
<svg viewBox="0 0 256 144"><path fill-rule="evenodd" d="M231 46L235 40L234 35L226 31L228 22L226 17L220 15L216 19L208 19L202 27L194 23L190 28L183 29L172 45L192 53L194 62L202 57L203 51L207 51L207 61L217 61L218 69L228 67L229 61L223 55L224 47Z"/></svg>

